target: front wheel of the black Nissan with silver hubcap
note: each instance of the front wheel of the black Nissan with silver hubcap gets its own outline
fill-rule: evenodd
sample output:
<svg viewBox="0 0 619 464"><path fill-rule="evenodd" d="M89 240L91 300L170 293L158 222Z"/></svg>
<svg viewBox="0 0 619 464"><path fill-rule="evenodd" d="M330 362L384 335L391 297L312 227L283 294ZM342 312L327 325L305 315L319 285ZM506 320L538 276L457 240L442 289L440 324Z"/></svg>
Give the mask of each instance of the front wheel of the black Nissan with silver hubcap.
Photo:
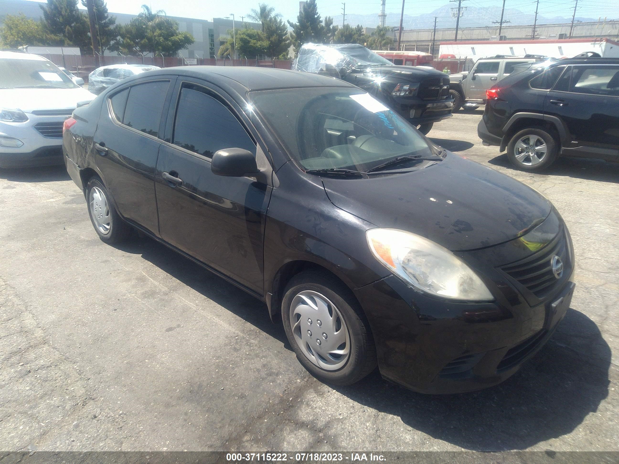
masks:
<svg viewBox="0 0 619 464"><path fill-rule="evenodd" d="M281 309L297 359L321 382L351 385L376 367L368 320L352 291L331 273L311 270L295 275L284 290Z"/></svg>

